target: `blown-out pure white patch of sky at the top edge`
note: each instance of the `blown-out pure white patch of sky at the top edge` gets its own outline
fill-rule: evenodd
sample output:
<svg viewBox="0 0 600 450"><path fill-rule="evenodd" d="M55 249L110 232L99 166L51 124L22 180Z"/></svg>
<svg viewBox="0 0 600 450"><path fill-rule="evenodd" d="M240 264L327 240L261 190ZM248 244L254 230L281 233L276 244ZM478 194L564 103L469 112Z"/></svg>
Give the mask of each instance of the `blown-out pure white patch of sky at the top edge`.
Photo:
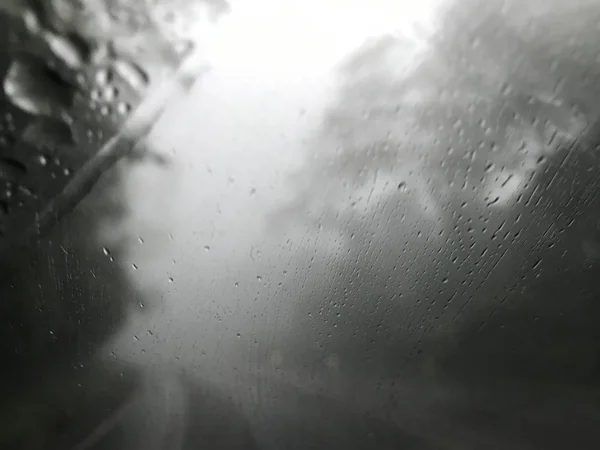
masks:
<svg viewBox="0 0 600 450"><path fill-rule="evenodd" d="M335 64L365 39L400 32L418 40L432 30L442 0L253 0L233 4L210 31L215 63L254 65L262 70L309 70Z"/></svg>

